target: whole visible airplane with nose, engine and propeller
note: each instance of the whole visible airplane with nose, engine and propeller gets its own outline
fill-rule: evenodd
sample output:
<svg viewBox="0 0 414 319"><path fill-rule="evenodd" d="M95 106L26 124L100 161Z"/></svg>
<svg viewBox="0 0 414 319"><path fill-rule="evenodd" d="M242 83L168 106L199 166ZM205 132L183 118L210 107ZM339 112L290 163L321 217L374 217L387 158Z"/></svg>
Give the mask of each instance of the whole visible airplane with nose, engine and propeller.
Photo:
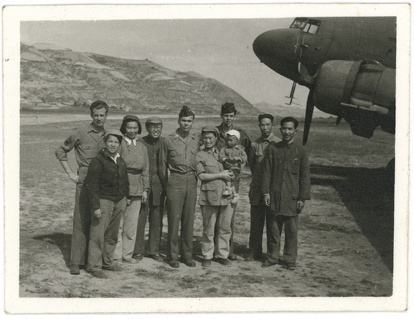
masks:
<svg viewBox="0 0 414 319"><path fill-rule="evenodd" d="M396 28L396 17L296 18L255 39L262 63L310 89L304 143L314 106L359 136L370 138L378 125L395 134Z"/></svg>

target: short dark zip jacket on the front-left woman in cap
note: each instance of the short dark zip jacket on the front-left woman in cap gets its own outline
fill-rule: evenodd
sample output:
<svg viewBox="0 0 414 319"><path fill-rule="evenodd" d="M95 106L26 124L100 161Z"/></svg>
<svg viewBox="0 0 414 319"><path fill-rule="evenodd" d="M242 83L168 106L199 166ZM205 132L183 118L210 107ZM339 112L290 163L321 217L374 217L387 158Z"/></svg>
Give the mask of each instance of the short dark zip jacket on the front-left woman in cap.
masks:
<svg viewBox="0 0 414 319"><path fill-rule="evenodd" d="M124 159L118 157L115 163L110 156L105 154L105 150L101 150L90 161L84 185L88 190L92 212L101 207L99 199L118 201L128 197L129 181Z"/></svg>

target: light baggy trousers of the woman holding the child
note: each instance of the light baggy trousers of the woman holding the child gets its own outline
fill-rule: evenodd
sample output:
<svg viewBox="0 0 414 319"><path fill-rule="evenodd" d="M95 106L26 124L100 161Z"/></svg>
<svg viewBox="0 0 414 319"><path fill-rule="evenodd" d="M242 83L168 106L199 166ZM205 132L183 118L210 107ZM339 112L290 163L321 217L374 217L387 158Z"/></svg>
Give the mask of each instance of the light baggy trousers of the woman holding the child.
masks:
<svg viewBox="0 0 414 319"><path fill-rule="evenodd" d="M201 253L204 259L212 259L213 254L219 258L227 258L230 250L231 219L234 205L211 206L201 205L203 216L203 236ZM215 227L218 227L215 236Z"/></svg>

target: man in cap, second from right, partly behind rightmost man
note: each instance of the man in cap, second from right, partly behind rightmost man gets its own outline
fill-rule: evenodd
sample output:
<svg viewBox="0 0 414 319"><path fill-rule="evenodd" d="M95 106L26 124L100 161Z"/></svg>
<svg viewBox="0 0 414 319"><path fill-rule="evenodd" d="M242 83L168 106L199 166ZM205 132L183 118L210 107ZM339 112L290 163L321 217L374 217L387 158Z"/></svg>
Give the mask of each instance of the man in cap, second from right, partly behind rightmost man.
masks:
<svg viewBox="0 0 414 319"><path fill-rule="evenodd" d="M273 134L273 116L271 114L259 115L259 129L262 134L250 147L250 171L252 181L250 183L250 240L249 254L246 261L262 259L262 238L266 212L269 207L264 205L262 198L262 171L265 150L270 143L277 143L280 140Z"/></svg>

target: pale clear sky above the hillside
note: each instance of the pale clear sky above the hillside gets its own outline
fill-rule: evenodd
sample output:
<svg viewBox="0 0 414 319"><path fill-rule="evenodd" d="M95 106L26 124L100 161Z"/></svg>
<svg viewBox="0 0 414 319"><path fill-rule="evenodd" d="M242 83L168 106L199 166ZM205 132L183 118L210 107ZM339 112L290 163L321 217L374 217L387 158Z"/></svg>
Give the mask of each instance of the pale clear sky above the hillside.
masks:
<svg viewBox="0 0 414 319"><path fill-rule="evenodd" d="M148 59L216 79L252 104L284 104L292 81L260 63L252 45L262 32L288 28L293 19L23 21L20 34L28 45L52 43L78 52ZM295 102L306 105L307 94L297 85Z"/></svg>

